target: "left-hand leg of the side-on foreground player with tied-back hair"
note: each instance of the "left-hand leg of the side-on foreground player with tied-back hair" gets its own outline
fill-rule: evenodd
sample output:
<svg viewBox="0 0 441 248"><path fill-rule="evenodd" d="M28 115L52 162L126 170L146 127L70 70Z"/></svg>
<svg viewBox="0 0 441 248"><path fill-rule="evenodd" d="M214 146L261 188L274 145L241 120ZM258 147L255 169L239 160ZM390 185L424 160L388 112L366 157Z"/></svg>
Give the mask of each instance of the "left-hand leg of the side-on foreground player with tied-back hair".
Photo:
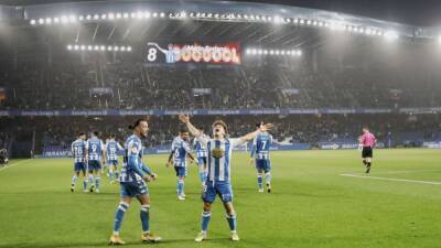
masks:
<svg viewBox="0 0 441 248"><path fill-rule="evenodd" d="M115 222L114 222L114 231L110 237L111 245L125 245L126 242L121 240L119 237L119 230L121 229L121 224L126 211L129 208L131 198L132 198L132 190L129 184L121 183L121 201L118 204L117 211L115 213Z"/></svg>

